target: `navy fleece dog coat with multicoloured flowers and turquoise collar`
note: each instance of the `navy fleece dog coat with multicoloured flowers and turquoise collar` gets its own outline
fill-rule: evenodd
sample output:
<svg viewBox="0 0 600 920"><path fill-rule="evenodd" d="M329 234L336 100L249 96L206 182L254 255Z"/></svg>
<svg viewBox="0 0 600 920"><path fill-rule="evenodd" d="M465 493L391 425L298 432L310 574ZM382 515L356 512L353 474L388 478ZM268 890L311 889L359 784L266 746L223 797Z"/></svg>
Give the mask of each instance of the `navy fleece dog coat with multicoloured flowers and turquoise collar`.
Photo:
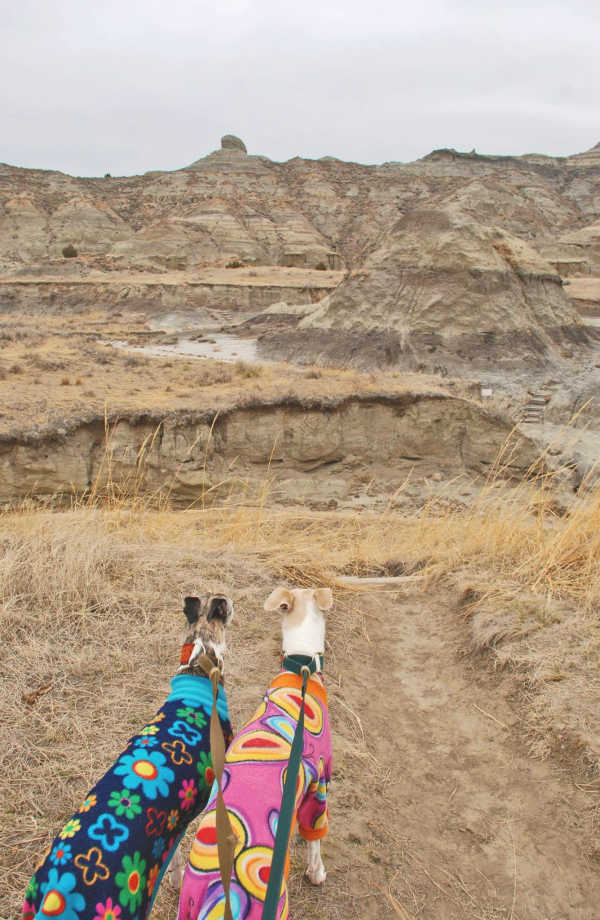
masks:
<svg viewBox="0 0 600 920"><path fill-rule="evenodd" d="M23 920L144 920L187 825L214 775L212 684L180 674L155 717L67 821L31 879ZM217 711L231 740L227 699Z"/></svg>

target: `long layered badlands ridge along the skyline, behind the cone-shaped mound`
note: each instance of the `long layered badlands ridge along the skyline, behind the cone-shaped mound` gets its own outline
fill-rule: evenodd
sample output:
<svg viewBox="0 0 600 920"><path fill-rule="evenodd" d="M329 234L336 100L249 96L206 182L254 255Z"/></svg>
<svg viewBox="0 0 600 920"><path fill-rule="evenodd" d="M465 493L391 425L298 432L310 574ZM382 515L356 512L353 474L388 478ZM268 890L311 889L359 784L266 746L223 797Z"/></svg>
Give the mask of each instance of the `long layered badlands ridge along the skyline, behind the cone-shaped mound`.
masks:
<svg viewBox="0 0 600 920"><path fill-rule="evenodd" d="M192 270L232 258L314 268L328 253L352 269L423 207L560 248L564 234L600 217L599 150L567 158L440 150L382 166L220 150L173 172L104 179L0 164L0 270ZM78 260L63 257L68 244Z"/></svg>

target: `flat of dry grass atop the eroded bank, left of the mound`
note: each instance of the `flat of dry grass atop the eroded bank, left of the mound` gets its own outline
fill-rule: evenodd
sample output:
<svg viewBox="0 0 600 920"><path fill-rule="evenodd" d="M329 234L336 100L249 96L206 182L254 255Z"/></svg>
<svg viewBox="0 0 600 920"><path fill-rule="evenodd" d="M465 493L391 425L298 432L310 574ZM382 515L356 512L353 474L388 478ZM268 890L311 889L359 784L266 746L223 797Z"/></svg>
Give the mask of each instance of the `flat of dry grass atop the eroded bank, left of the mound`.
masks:
<svg viewBox="0 0 600 920"><path fill-rule="evenodd" d="M311 398L442 391L439 380L417 374L362 374L331 368L310 374L284 364L167 359L102 344L128 338L142 344L143 336L136 333L144 330L143 321L135 315L114 318L99 313L78 315L75 321L73 317L23 316L12 326L0 324L0 433L52 426L82 414L98 415L107 405L126 415L148 410L223 409L243 405L249 398L275 399L282 393ZM19 374L18 387L12 373ZM69 386L73 380L85 381L85 399L81 390ZM466 389L456 384L453 394L463 391Z"/></svg>

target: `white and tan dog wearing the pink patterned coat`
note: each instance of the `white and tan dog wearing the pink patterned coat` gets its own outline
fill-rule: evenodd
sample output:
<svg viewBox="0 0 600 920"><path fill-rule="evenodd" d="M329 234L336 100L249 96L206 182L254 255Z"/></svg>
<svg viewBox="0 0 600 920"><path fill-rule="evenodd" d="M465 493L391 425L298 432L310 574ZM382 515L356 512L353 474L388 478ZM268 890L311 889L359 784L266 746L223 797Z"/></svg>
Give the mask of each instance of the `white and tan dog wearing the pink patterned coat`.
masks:
<svg viewBox="0 0 600 920"><path fill-rule="evenodd" d="M265 601L267 612L282 614L283 667L271 682L253 718L235 736L225 757L223 798L235 836L229 887L235 920L260 920L273 858L283 784L298 722L302 678L286 656L314 662L305 697L303 752L296 785L295 821L307 841L306 875L314 885L326 878L321 838L328 829L327 784L331 777L331 734L327 693L321 674L325 611L330 588L277 588ZM288 867L285 876L287 877ZM216 843L216 790L213 787L184 873L178 920L222 916L225 893ZM287 886L277 916L288 916Z"/></svg>

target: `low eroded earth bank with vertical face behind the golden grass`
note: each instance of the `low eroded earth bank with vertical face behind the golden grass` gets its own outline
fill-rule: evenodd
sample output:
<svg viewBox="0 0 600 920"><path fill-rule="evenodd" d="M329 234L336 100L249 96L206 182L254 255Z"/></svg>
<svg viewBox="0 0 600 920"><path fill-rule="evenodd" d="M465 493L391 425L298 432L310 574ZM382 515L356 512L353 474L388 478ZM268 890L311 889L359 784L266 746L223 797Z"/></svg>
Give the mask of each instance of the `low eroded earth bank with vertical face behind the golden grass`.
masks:
<svg viewBox="0 0 600 920"><path fill-rule="evenodd" d="M138 415L106 427L94 418L0 441L0 501L85 493L110 481L187 503L268 482L274 499L310 504L348 498L361 471L380 477L389 497L410 469L487 472L509 432L469 400L411 393ZM535 457L519 435L508 468L523 472Z"/></svg>

